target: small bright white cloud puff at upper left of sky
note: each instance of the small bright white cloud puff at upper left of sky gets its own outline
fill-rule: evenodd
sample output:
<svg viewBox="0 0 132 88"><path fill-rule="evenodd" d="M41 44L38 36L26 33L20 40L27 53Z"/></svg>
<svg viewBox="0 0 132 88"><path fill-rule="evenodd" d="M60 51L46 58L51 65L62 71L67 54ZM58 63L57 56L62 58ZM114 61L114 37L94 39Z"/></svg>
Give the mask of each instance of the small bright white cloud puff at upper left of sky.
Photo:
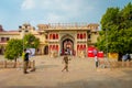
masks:
<svg viewBox="0 0 132 88"><path fill-rule="evenodd" d="M24 0L22 6L21 6L21 9L22 10L31 10L35 8L35 2L34 0Z"/></svg>

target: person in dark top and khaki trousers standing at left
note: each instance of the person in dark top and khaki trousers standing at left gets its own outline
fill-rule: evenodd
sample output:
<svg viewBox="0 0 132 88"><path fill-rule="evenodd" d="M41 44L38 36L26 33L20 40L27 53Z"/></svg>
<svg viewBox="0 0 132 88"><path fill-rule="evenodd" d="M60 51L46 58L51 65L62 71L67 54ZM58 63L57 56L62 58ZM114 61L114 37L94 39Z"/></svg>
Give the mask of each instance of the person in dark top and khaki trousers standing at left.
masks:
<svg viewBox="0 0 132 88"><path fill-rule="evenodd" d="M26 50L24 50L22 56L23 56L23 73L28 74L28 68L29 68L29 54Z"/></svg>

